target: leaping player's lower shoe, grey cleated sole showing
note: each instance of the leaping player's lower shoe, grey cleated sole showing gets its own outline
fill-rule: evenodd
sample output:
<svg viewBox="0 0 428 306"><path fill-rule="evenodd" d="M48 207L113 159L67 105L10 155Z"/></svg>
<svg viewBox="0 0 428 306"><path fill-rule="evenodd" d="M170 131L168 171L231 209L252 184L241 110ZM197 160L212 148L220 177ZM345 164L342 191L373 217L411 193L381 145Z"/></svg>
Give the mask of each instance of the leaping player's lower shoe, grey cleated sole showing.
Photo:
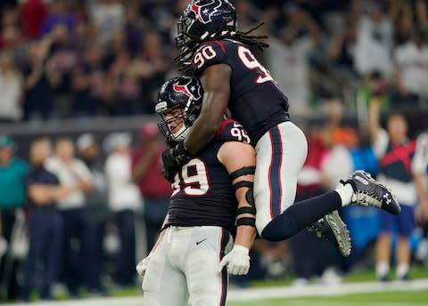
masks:
<svg viewBox="0 0 428 306"><path fill-rule="evenodd" d="M324 237L332 241L343 256L348 257L350 255L350 231L337 211L326 214L323 219L315 222L308 230L315 231L318 238Z"/></svg>

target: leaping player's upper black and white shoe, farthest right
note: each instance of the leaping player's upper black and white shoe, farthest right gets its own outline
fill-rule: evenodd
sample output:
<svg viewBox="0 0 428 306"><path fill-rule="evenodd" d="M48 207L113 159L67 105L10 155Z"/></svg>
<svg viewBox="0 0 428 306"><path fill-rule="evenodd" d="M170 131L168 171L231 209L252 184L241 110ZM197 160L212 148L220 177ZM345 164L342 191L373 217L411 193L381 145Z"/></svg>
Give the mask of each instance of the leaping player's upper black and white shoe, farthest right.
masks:
<svg viewBox="0 0 428 306"><path fill-rule="evenodd" d="M399 202L392 195L391 190L375 181L370 173L358 170L352 173L350 179L341 182L343 185L350 183L354 189L352 204L370 205L392 214L401 212Z"/></svg>

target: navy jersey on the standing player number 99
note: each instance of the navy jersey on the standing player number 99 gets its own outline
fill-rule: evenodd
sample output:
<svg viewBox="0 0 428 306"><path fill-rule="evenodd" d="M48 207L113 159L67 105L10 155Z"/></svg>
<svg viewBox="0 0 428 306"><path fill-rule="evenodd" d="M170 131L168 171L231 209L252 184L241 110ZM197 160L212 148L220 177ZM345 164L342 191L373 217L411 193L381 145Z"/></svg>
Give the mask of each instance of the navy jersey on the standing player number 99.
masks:
<svg viewBox="0 0 428 306"><path fill-rule="evenodd" d="M222 122L216 137L177 173L172 184L169 225L219 226L233 231L235 189L217 157L226 141L250 143L250 137L234 120Z"/></svg>

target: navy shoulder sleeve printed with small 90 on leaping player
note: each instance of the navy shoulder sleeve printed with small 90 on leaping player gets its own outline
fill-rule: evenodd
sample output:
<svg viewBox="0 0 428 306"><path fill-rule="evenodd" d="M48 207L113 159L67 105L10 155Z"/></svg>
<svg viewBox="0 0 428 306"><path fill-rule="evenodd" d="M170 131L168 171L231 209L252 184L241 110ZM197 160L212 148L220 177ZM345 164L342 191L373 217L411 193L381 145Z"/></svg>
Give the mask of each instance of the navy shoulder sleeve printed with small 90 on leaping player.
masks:
<svg viewBox="0 0 428 306"><path fill-rule="evenodd" d="M213 40L203 43L194 53L192 69L196 75L212 65L226 64L232 66L236 52L236 44L230 40Z"/></svg>

